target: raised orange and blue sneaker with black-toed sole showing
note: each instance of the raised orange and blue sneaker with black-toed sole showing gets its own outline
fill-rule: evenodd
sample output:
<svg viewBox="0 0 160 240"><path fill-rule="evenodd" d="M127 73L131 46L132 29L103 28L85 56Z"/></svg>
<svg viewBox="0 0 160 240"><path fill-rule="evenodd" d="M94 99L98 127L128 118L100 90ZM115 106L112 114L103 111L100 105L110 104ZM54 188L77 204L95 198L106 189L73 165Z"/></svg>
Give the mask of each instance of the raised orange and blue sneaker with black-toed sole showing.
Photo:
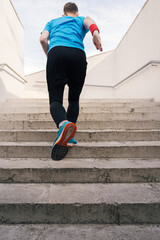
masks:
<svg viewBox="0 0 160 240"><path fill-rule="evenodd" d="M57 133L57 138L52 145L51 158L59 161L68 153L68 142L74 137L77 126L72 122L65 122Z"/></svg>

